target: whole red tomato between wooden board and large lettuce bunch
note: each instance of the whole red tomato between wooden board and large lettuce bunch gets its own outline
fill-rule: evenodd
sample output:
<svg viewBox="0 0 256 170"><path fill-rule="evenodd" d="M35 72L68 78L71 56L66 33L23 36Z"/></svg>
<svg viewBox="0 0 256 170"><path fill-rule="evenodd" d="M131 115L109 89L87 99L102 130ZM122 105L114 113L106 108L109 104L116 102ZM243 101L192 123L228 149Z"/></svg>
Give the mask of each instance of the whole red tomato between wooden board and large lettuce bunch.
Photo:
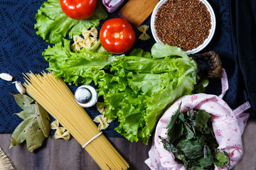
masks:
<svg viewBox="0 0 256 170"><path fill-rule="evenodd" d="M124 18L112 18L103 23L100 29L100 42L108 52L127 52L135 41L132 26Z"/></svg>

